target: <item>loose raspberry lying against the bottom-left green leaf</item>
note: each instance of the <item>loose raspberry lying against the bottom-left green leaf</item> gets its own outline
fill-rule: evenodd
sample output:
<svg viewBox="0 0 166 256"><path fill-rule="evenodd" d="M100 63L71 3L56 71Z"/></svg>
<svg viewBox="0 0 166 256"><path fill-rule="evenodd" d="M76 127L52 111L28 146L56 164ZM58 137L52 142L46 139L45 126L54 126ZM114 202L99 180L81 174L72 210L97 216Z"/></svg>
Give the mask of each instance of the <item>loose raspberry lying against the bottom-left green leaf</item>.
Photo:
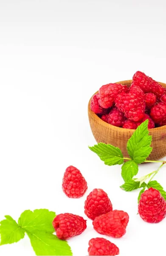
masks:
<svg viewBox="0 0 166 256"><path fill-rule="evenodd" d="M79 215L61 213L54 218L53 227L59 239L67 240L80 235L86 229L87 224Z"/></svg>

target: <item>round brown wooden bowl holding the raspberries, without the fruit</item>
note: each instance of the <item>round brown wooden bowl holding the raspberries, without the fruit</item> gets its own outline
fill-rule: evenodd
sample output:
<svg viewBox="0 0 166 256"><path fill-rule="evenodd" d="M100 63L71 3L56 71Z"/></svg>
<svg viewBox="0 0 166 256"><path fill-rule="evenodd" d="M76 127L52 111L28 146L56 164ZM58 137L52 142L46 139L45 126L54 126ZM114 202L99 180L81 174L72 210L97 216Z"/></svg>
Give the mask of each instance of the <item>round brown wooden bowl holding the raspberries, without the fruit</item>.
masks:
<svg viewBox="0 0 166 256"><path fill-rule="evenodd" d="M120 81L117 84L126 84L130 86L132 80ZM159 82L160 83L160 82ZM166 88L166 84L160 83ZM96 92L98 93L98 92ZM95 93L95 94L96 94ZM91 99L90 99L91 101ZM88 104L88 117L90 128L97 143L103 142L114 145L121 149L124 157L129 157L127 153L127 141L135 130L116 127L104 122L90 109L90 101ZM158 128L149 129L149 135L152 135L152 152L147 158L148 160L158 160L166 156L166 125Z"/></svg>

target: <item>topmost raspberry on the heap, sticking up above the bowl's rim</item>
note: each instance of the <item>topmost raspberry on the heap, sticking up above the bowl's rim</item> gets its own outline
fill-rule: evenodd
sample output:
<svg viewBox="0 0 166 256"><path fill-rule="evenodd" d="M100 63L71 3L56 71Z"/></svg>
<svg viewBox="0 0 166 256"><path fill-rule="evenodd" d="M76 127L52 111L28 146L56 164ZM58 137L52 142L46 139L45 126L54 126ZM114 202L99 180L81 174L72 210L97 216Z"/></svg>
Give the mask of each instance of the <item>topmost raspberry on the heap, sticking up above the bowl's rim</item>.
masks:
<svg viewBox="0 0 166 256"><path fill-rule="evenodd" d="M132 79L134 84L138 85L144 93L154 93L158 98L163 95L163 87L151 77L146 76L143 72L137 71Z"/></svg>

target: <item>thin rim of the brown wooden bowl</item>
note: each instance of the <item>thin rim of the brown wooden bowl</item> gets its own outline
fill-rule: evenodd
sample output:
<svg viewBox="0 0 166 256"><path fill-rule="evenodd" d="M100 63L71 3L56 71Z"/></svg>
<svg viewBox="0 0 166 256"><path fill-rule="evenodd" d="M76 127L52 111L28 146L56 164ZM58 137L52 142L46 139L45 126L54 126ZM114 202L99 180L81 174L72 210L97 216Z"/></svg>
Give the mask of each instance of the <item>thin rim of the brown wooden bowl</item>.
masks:
<svg viewBox="0 0 166 256"><path fill-rule="evenodd" d="M132 83L132 80L124 80L124 81L119 81L119 82L116 82L115 84L121 84L121 83L129 83L131 82ZM166 86L165 83L162 83L162 82L158 82L159 84L164 84ZM98 93L98 91L96 92ZM95 95L96 93L94 93L93 95ZM92 95L92 97L93 97ZM91 99L92 97L90 98L89 100L89 103L88 103L88 112L90 113L91 116L93 116L94 119L97 120L98 123L100 123L101 125L105 125L106 127L108 128L112 128L116 131L121 131L121 132L128 132L128 131L135 131L135 129L126 129L126 128L122 128L122 127L117 127L117 126L114 126L114 125L110 125L109 123L107 122L104 122L99 116L97 116L96 113L94 113L93 111L91 111L90 109L90 102L91 102ZM156 127L156 128L152 128L152 129L149 129L149 131L151 133L155 133L156 131L165 131L166 130L166 125L163 125L163 126L160 126L160 127Z"/></svg>

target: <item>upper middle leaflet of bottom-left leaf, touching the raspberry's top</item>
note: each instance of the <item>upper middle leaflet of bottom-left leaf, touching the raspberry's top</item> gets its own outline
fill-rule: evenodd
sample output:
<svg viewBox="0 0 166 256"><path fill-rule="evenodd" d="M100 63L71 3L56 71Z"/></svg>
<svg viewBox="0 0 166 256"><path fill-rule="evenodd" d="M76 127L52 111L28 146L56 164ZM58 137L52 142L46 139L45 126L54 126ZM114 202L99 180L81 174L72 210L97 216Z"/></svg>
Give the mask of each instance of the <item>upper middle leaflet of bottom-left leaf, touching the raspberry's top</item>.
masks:
<svg viewBox="0 0 166 256"><path fill-rule="evenodd" d="M50 212L47 209L37 209L34 212L26 210L21 214L18 224L30 233L38 230L53 233L54 228L52 222L55 216L55 212Z"/></svg>

